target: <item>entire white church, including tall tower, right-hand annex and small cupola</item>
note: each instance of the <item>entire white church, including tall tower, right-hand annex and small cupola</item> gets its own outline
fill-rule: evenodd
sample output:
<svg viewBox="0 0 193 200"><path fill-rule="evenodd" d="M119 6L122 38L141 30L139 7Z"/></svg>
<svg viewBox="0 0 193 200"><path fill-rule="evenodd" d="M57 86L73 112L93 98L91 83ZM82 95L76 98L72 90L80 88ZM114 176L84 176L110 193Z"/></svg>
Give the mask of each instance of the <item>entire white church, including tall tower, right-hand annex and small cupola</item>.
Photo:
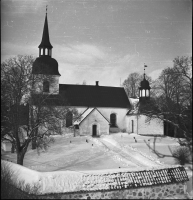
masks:
<svg viewBox="0 0 193 200"><path fill-rule="evenodd" d="M145 116L139 116L128 98L123 87L95 85L60 84L58 62L52 58L53 46L51 45L48 30L47 13L43 28L42 41L39 48L39 57L33 63L34 76L44 75L44 79L35 83L34 93L38 94L39 86L48 98L55 99L53 106L62 106L57 98L60 96L66 101L66 105L76 108L80 113L80 119L73 121L71 113L68 114L66 126L68 131L74 127L78 135L100 136L116 132L128 132L137 134L163 134L163 126L157 122L145 123ZM49 82L52 78L52 82ZM94 78L94 77L93 77ZM139 101L150 98L149 82L145 79L139 88ZM138 99L137 99L138 101ZM150 131L150 126L152 130ZM156 129L155 129L156 126Z"/></svg>

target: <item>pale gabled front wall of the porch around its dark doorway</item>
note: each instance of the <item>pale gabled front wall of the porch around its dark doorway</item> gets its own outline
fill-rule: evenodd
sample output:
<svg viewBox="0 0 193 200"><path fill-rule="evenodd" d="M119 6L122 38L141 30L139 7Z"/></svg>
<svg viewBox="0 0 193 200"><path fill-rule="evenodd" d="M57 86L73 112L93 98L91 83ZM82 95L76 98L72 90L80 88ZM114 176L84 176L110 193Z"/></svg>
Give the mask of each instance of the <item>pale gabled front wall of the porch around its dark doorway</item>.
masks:
<svg viewBox="0 0 193 200"><path fill-rule="evenodd" d="M97 135L109 134L108 121L97 110L94 110L80 124L80 135L92 135L93 125L97 125Z"/></svg>

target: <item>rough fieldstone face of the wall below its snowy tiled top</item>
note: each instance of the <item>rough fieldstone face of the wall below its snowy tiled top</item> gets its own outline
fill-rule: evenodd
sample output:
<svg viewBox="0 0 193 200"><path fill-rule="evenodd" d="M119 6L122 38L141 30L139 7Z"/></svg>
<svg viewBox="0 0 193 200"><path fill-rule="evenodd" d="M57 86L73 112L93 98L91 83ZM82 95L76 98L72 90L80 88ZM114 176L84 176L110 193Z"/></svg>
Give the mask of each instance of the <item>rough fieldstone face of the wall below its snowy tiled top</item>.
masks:
<svg viewBox="0 0 193 200"><path fill-rule="evenodd" d="M185 184L169 184L136 189L122 189L114 191L93 191L41 195L41 198L57 199L165 199L175 195L185 194Z"/></svg>

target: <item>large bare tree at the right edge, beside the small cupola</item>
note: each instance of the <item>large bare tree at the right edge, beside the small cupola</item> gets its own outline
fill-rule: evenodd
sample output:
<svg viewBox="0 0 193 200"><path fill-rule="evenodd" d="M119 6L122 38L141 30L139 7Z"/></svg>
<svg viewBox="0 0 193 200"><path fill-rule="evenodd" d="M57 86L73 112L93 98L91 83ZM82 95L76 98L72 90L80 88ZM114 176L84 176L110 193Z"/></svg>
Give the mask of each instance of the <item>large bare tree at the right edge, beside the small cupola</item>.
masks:
<svg viewBox="0 0 193 200"><path fill-rule="evenodd" d="M177 57L173 62L174 66L164 69L156 81L157 94L139 105L139 112L147 116L147 121L159 118L166 128L172 126L179 144L186 146L192 157L192 58Z"/></svg>

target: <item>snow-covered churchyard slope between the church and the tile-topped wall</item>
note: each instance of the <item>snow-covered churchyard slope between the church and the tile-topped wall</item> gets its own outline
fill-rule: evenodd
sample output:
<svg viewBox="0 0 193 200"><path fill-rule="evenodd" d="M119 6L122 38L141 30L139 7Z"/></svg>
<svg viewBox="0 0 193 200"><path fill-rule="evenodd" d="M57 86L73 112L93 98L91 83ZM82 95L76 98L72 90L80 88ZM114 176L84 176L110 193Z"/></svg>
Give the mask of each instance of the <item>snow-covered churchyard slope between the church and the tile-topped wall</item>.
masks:
<svg viewBox="0 0 193 200"><path fill-rule="evenodd" d="M29 148L24 158L24 166L29 168L29 171L23 174L24 178L26 178L27 174L32 173L34 174L34 180L43 180L45 183L49 182L49 176L52 177L52 181L53 177L60 176L63 178L68 177L67 179L72 182L71 179L73 178L81 180L84 171L92 174L104 173L104 171L111 173L159 169L169 165L176 165L173 158L164 157L160 159L152 153L145 144L146 141L153 146L154 138L151 136L116 133L100 138L92 138L90 136L55 136L54 138L55 142L50 145L49 149L46 152L41 151L39 155L37 150ZM168 146L174 149L178 146L177 140L170 137L157 137L155 146L157 151L171 155ZM3 152L1 157L4 160L16 162L15 153ZM57 171L61 171L61 174ZM44 173L39 174L39 172ZM188 174L190 177L190 171L188 171ZM53 184L51 185L53 186ZM189 187L191 188L192 185ZM69 189L67 186L65 188ZM74 186L72 188L70 186L70 191L73 190ZM46 191L50 191L50 188L44 188L43 192Z"/></svg>

